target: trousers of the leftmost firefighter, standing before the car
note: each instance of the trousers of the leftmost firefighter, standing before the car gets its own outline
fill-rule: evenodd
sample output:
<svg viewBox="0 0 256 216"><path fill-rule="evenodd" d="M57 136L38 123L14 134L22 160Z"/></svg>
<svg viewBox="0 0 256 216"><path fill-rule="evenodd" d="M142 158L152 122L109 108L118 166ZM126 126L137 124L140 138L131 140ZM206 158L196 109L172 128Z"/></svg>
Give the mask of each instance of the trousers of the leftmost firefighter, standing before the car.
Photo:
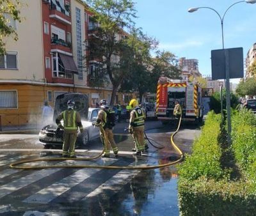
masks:
<svg viewBox="0 0 256 216"><path fill-rule="evenodd" d="M63 148L62 155L65 157L72 157L75 155L77 133L67 133L64 131L63 134Z"/></svg>

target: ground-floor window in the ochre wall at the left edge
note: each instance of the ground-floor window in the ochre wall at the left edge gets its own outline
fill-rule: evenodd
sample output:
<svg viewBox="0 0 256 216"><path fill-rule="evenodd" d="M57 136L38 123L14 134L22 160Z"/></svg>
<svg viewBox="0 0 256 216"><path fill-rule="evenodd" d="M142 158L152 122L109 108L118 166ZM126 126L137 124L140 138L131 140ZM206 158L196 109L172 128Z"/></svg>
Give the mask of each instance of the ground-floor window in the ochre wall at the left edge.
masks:
<svg viewBox="0 0 256 216"><path fill-rule="evenodd" d="M0 109L18 108L17 91L0 91Z"/></svg>

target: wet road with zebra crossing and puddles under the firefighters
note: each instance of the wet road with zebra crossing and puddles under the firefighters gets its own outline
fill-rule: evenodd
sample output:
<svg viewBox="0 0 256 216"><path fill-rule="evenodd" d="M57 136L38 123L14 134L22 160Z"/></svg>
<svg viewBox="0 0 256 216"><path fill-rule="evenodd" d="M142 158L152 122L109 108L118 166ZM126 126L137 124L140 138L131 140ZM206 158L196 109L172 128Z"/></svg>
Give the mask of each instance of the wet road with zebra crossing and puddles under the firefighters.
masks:
<svg viewBox="0 0 256 216"><path fill-rule="evenodd" d="M31 163L86 164L101 166L138 166L163 164L177 158L170 145L173 125L147 121L146 133L158 150L149 144L148 156L135 157L127 123L115 127L118 158L91 161ZM190 153L191 143L200 134L192 123L182 124L175 143ZM177 171L175 166L149 170L10 169L9 164L28 158L60 157L61 149L45 149L37 134L0 134L0 214L1 215L179 215L177 206ZM154 141L152 141L154 139ZM92 157L102 150L100 139L77 149L77 157Z"/></svg>

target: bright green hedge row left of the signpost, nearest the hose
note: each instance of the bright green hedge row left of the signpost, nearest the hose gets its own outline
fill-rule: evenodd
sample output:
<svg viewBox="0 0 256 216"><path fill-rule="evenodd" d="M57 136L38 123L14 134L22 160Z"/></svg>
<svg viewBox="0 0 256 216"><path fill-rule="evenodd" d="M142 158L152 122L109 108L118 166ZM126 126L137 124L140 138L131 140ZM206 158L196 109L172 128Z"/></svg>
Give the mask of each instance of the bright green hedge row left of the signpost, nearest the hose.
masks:
<svg viewBox="0 0 256 216"><path fill-rule="evenodd" d="M209 112L202 134L193 144L192 155L186 155L186 161L180 166L180 178L196 180L205 176L218 179L223 176L220 167L221 148L218 144L220 121L220 114Z"/></svg>

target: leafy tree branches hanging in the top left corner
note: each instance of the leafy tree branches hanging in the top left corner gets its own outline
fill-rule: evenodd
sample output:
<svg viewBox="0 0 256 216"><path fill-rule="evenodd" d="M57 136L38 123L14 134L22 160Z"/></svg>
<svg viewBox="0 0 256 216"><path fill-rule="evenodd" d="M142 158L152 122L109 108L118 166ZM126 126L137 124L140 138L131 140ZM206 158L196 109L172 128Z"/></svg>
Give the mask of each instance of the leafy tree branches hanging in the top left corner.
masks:
<svg viewBox="0 0 256 216"><path fill-rule="evenodd" d="M0 0L0 55L5 53L4 37L13 35L15 41L18 40L18 35L15 29L10 26L11 19L21 21L19 0Z"/></svg>

